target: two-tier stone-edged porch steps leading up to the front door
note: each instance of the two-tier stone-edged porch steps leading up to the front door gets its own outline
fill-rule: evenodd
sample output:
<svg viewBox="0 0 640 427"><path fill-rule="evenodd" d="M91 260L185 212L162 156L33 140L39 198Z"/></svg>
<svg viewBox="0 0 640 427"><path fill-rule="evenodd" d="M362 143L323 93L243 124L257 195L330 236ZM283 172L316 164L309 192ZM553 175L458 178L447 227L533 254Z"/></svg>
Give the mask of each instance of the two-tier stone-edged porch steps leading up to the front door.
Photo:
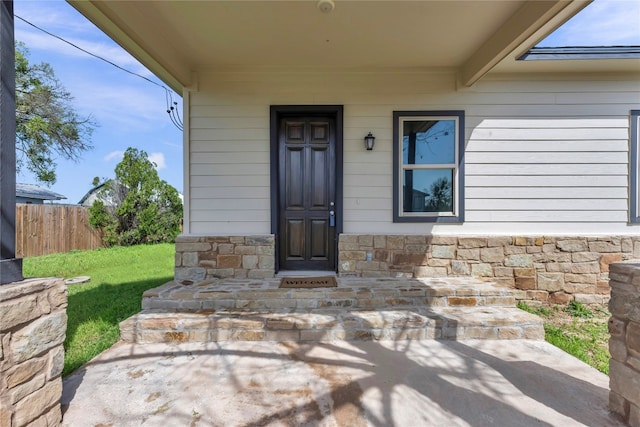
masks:
<svg viewBox="0 0 640 427"><path fill-rule="evenodd" d="M280 279L168 282L120 325L136 343L543 339L512 290L471 277L338 278L334 288L281 289Z"/></svg>

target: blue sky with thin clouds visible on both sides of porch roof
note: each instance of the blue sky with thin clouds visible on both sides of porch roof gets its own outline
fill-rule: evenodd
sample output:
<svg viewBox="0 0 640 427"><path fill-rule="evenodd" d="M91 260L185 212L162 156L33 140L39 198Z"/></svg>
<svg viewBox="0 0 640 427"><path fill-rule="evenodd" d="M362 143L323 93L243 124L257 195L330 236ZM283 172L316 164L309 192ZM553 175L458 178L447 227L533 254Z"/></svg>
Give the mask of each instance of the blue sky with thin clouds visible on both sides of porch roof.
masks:
<svg viewBox="0 0 640 427"><path fill-rule="evenodd" d="M45 30L158 83L146 68L64 1L16 0L15 14ZM539 46L640 45L640 1L597 0ZM182 133L166 113L164 91L93 58L16 19L16 40L29 48L31 62L48 62L74 96L74 108L99 124L94 149L75 163L58 159L51 187L77 203L95 176L111 178L127 147L146 151L161 179L182 192ZM175 99L181 103L179 96ZM18 182L36 183L26 174Z"/></svg>

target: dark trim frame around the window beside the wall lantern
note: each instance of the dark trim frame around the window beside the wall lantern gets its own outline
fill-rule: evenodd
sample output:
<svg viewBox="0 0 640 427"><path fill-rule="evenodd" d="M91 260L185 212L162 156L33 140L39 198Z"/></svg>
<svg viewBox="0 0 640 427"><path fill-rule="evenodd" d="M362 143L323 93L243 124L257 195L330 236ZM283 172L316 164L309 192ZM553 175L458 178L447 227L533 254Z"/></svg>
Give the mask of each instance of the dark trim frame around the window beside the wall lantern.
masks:
<svg viewBox="0 0 640 427"><path fill-rule="evenodd" d="M412 213L405 215L400 203L402 201L402 140L400 138L400 122L409 118L437 118L455 119L458 122L458 141L456 152L456 166L454 170L453 188L453 214L429 212L427 215ZM463 110L436 110L436 111L394 111L393 112L393 222L437 222L437 223L461 223L464 222L464 111ZM431 165L436 166L436 165Z"/></svg>

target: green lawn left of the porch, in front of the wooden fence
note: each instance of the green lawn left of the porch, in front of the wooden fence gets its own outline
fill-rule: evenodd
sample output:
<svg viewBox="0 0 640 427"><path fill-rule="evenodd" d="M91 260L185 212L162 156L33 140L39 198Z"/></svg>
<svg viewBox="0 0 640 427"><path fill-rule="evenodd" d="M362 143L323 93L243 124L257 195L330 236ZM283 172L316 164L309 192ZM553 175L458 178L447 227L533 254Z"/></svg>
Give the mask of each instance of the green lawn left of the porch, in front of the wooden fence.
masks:
<svg viewBox="0 0 640 427"><path fill-rule="evenodd" d="M173 279L174 254L175 245L159 244L74 251L23 261L25 277L91 277L88 283L68 287L63 376L118 340L118 324L140 311L142 293Z"/></svg>

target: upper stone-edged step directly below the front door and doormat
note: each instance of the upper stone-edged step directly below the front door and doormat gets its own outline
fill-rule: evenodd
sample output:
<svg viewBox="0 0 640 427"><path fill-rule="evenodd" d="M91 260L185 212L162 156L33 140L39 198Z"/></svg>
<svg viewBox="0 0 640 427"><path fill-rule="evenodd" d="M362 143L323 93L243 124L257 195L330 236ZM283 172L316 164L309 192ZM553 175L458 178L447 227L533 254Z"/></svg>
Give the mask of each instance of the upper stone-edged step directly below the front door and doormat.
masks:
<svg viewBox="0 0 640 427"><path fill-rule="evenodd" d="M143 310L352 310L402 307L515 307L513 290L472 277L338 278L335 288L280 289L279 280L171 281L146 291Z"/></svg>

